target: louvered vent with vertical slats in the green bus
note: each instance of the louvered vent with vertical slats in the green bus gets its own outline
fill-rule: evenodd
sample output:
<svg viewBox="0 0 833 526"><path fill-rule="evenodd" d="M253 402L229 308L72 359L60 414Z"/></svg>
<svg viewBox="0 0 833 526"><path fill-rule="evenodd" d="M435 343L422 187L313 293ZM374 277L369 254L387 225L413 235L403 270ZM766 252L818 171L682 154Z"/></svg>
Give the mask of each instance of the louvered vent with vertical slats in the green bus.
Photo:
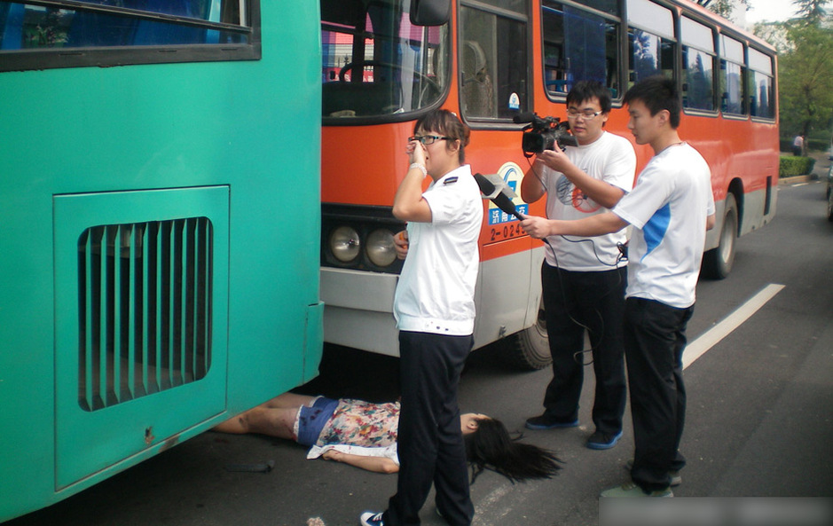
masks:
<svg viewBox="0 0 833 526"><path fill-rule="evenodd" d="M205 377L212 247L206 217L107 224L82 233L78 395L84 410Z"/></svg>

